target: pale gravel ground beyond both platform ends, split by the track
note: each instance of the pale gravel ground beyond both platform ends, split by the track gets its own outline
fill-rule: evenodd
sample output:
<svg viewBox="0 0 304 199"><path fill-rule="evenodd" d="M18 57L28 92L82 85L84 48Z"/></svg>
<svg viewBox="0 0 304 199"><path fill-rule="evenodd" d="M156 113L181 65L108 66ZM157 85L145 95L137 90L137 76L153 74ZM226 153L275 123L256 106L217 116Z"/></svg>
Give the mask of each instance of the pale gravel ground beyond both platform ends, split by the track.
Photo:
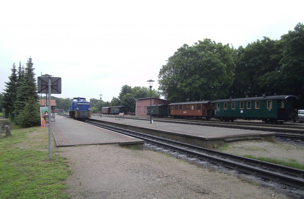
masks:
<svg viewBox="0 0 304 199"><path fill-rule="evenodd" d="M229 153L256 156L290 156L304 162L303 148L270 142L235 142ZM72 199L268 199L294 198L277 193L229 172L179 160L164 153L134 150L118 145L62 147L73 174L67 180ZM254 153L254 154L253 154Z"/></svg>

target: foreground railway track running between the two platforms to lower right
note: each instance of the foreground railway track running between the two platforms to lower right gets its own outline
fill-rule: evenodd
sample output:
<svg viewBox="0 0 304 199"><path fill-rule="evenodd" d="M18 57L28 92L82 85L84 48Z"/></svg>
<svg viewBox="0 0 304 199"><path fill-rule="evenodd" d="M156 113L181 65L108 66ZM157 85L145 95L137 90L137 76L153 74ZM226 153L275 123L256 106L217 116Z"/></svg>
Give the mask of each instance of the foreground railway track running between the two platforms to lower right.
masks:
<svg viewBox="0 0 304 199"><path fill-rule="evenodd" d="M253 160L241 156L222 153L190 144L185 144L156 136L150 136L140 132L104 125L98 122L84 121L88 124L119 132L128 136L145 140L153 145L161 146L164 149L172 150L199 160L209 161L227 168L238 170L243 173L256 175L265 180L272 180L279 184L285 184L299 189L304 188L304 170L280 166L259 160Z"/></svg>

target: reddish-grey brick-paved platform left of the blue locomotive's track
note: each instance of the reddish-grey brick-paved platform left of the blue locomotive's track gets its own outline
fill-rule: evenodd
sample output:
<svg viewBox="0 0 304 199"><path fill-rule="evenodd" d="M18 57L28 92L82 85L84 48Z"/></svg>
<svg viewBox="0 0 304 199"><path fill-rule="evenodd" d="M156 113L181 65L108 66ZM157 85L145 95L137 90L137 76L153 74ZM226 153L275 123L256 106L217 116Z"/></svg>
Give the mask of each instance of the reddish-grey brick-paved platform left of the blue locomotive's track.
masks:
<svg viewBox="0 0 304 199"><path fill-rule="evenodd" d="M143 148L144 143L140 139L59 115L56 115L56 122L51 121L51 128L57 146L118 143Z"/></svg>

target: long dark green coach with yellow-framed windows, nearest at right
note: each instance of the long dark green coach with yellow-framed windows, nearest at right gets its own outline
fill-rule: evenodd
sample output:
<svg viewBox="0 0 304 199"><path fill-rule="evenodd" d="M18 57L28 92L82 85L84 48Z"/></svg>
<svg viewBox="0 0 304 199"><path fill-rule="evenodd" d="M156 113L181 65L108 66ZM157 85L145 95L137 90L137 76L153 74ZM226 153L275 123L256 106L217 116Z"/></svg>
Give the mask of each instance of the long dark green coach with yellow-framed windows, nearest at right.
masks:
<svg viewBox="0 0 304 199"><path fill-rule="evenodd" d="M212 101L214 117L221 121L235 119L262 120L266 123L284 123L294 115L292 101L299 99L294 95L274 95L253 98L237 98Z"/></svg>

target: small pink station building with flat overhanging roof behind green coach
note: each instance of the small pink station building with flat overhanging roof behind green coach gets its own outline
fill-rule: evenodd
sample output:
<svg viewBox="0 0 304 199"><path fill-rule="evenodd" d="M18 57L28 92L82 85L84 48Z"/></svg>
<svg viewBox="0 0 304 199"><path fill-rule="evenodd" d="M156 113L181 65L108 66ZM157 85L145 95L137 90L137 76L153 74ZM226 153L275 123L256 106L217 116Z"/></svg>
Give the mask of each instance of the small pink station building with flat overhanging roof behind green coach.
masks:
<svg viewBox="0 0 304 199"><path fill-rule="evenodd" d="M135 100L135 114L138 116L146 116L147 115L147 106L150 106L150 98L140 98ZM165 99L160 98L151 98L152 105L168 105L169 103Z"/></svg>

